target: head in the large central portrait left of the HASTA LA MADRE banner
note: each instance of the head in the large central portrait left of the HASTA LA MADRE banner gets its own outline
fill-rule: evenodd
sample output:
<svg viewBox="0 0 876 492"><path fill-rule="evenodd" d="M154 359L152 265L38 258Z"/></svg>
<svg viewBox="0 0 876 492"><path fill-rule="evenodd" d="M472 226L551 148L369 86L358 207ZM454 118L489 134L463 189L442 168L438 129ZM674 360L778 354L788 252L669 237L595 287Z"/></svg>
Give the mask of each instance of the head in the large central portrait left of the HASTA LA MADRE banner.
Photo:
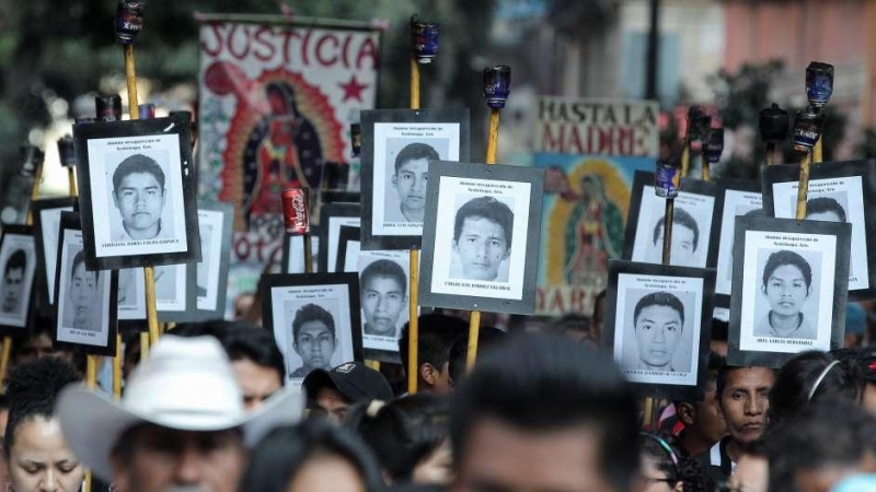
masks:
<svg viewBox="0 0 876 492"><path fill-rule="evenodd" d="M493 197L480 197L457 210L453 250L462 263L462 276L494 281L502 262L510 256L514 212Z"/></svg>

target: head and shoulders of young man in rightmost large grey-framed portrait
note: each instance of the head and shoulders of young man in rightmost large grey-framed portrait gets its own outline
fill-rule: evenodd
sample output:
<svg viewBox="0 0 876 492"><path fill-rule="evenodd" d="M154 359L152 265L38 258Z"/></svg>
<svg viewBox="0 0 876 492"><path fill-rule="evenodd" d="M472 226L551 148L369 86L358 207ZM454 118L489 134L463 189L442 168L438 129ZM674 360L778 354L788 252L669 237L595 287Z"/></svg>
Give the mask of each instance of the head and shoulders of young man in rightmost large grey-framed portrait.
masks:
<svg viewBox="0 0 876 492"><path fill-rule="evenodd" d="M766 259L762 282L770 312L754 325L754 336L815 340L815 325L800 311L812 293L809 263L794 251L775 251Z"/></svg>

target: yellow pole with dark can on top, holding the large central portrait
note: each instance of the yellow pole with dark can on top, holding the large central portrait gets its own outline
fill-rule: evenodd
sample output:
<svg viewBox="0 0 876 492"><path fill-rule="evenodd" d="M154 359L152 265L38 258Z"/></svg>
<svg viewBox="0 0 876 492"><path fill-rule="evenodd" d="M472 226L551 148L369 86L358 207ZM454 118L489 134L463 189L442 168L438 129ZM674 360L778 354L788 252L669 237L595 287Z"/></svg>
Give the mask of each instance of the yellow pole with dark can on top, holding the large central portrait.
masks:
<svg viewBox="0 0 876 492"><path fill-rule="evenodd" d="M498 65L484 69L484 97L489 107L489 129L486 141L486 163L496 163L499 145L499 110L505 107L511 93L511 68ZM471 371L477 359L477 339L481 335L481 312L473 311L469 319L469 348L465 354L465 367Z"/></svg>

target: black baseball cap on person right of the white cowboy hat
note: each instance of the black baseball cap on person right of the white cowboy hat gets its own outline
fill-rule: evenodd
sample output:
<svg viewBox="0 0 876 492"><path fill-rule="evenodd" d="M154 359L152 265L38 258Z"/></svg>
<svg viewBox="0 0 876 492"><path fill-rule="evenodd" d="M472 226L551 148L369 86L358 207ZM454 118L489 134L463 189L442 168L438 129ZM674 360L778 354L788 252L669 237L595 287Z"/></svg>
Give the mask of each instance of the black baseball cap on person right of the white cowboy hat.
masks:
<svg viewBox="0 0 876 492"><path fill-rule="evenodd" d="M392 388L387 378L359 362L345 362L331 371L311 371L302 386L308 400L316 399L316 394L326 386L337 389L351 403L392 399Z"/></svg>

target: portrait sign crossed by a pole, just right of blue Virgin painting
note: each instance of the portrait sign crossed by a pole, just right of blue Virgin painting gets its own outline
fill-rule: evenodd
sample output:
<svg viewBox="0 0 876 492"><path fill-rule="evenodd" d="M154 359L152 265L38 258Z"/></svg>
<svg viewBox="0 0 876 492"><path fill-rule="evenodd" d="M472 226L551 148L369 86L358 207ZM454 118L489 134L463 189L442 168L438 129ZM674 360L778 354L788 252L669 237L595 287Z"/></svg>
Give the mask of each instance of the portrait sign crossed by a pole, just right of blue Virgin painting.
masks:
<svg viewBox="0 0 876 492"><path fill-rule="evenodd" d="M679 189L672 215L669 263L703 268L710 249L715 185L683 178ZM661 263L666 199L654 192L654 173L636 171L630 197L623 258Z"/></svg>

